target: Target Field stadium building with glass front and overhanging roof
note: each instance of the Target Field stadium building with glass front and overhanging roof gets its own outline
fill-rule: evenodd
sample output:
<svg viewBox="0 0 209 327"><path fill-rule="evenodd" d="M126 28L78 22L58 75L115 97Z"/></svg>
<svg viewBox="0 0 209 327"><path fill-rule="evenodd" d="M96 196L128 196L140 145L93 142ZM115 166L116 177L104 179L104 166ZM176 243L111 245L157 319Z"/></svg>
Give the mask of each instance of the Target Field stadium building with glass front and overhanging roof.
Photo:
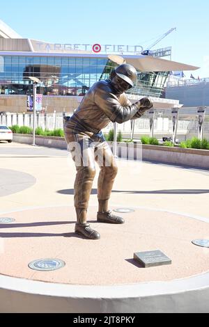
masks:
<svg viewBox="0 0 209 327"><path fill-rule="evenodd" d="M130 97L160 98L170 71L195 70L197 67L141 55L142 47L135 45L72 45L50 44L22 38L0 21L0 111L22 113L27 110L27 96L33 93L29 77L42 83L38 94L47 112L68 111L77 104L88 89L118 65L121 54L138 72L137 85ZM116 58L116 60L114 60Z"/></svg>

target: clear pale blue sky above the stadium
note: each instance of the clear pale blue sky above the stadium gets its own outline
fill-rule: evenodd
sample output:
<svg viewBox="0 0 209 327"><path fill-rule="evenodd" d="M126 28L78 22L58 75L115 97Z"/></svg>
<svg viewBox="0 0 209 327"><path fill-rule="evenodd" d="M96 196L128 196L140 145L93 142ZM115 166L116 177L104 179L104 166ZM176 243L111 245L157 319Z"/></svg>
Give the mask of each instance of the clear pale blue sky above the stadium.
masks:
<svg viewBox="0 0 209 327"><path fill-rule="evenodd" d="M0 8L0 19L22 37L52 43L146 48L176 27L155 48L172 46L173 61L201 67L194 77L209 77L206 0L0 0Z"/></svg>

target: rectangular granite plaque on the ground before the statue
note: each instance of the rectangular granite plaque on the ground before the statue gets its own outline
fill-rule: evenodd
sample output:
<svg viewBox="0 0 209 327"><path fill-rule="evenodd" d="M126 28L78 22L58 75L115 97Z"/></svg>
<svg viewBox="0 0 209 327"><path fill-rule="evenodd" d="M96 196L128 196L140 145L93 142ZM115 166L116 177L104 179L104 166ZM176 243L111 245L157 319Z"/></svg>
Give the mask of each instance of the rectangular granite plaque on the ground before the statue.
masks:
<svg viewBox="0 0 209 327"><path fill-rule="evenodd" d="M171 259L160 250L134 253L134 260L144 268L171 264Z"/></svg>

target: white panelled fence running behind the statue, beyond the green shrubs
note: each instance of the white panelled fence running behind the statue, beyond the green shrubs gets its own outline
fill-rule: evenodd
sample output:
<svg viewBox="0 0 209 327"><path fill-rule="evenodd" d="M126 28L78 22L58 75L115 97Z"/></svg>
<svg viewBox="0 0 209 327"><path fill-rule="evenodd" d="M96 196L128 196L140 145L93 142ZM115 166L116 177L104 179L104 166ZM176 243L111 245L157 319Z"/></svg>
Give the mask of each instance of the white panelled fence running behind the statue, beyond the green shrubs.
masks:
<svg viewBox="0 0 209 327"><path fill-rule="evenodd" d="M36 114L36 126L42 127L42 129L47 129L52 131L54 129L63 129L63 115L68 115L66 113L37 113ZM150 134L150 119L147 115L142 118L134 120L134 138L140 138L141 135ZM0 115L0 125L7 125L8 127L13 125L28 126L33 127L33 113L26 114L16 114L7 113ZM157 138L162 138L163 136L172 136L172 120L171 113L162 114L162 112L156 111L154 120L154 136ZM114 129L114 124L110 123L106 129L104 129L104 134L107 134L110 129ZM182 141L192 136L198 136L199 122L197 115L179 115L178 120L178 131L177 138ZM118 125L118 131L121 131L124 138L130 138L132 132L132 121L125 122ZM204 123L204 136L209 138L209 115L206 115Z"/></svg>

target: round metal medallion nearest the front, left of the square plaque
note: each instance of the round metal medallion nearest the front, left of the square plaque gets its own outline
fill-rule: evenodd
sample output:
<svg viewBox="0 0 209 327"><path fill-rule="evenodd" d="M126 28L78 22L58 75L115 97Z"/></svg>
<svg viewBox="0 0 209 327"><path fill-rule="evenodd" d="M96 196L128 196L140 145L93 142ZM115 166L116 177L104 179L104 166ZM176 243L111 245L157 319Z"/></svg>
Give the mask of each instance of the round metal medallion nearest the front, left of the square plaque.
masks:
<svg viewBox="0 0 209 327"><path fill-rule="evenodd" d="M37 271L54 271L65 266L65 262L59 259L40 259L29 264L29 268Z"/></svg>

